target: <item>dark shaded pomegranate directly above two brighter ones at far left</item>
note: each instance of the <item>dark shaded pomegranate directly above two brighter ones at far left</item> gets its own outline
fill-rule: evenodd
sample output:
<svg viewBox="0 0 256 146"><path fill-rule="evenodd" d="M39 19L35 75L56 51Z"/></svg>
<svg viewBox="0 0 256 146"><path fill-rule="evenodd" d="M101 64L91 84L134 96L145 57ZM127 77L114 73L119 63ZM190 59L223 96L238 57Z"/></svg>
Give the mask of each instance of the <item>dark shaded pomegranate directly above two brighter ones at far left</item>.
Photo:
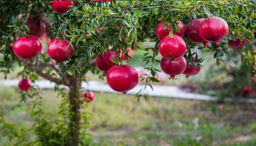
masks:
<svg viewBox="0 0 256 146"><path fill-rule="evenodd" d="M39 38L45 33L45 24L41 20L39 22L35 22L34 19L29 18L26 24L30 29L31 35L35 35Z"/></svg>

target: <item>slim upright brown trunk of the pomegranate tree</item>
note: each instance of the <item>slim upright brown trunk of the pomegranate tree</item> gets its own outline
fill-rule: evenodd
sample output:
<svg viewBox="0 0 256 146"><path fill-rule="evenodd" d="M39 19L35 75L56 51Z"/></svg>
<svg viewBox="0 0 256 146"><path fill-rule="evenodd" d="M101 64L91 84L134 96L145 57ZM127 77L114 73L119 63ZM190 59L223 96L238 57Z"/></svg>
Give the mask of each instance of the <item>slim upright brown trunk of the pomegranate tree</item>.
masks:
<svg viewBox="0 0 256 146"><path fill-rule="evenodd" d="M67 146L78 146L80 130L80 87L81 77L75 73L75 77L69 78L69 102L70 102L70 124Z"/></svg>

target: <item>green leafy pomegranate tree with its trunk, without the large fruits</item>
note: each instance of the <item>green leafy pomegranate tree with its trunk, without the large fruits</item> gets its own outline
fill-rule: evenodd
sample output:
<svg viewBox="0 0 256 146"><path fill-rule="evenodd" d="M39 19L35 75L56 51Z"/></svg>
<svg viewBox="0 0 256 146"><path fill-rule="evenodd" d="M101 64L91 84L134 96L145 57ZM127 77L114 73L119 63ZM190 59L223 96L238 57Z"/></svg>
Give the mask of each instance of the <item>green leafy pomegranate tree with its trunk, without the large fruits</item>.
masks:
<svg viewBox="0 0 256 146"><path fill-rule="evenodd" d="M217 58L217 64L222 57L228 53L227 41L234 36L249 42L250 47L240 51L242 62L253 67L255 73L256 65L255 47L251 42L254 39L253 33L256 27L255 1L89 1L76 0L70 9L65 13L53 10L52 1L45 0L1 0L0 1L0 53L3 60L0 61L1 72L10 73L14 69L15 62L24 66L18 75L29 77L33 82L43 77L46 80L56 83L56 91L63 97L63 104L60 107L59 118L52 119L44 113L40 107L41 97L37 87L29 92L22 92L22 99L30 98L33 105L32 116L35 119L34 131L37 140L27 141L26 135L20 131L6 130L6 133L16 137L17 145L88 145L90 134L88 132L88 113L81 113L86 107L82 104L80 92L82 81L86 81L86 73L92 70L95 74L101 74L96 66L95 58L98 54L103 55L109 46L113 50L119 48L118 53L125 53L128 57L129 46L136 45L136 42L144 42L146 39L156 42L154 48L147 48L143 61L146 62L146 69L149 75L142 76L146 81L145 86L151 86L157 82L157 69L153 64L159 64L155 59L158 54L159 39L155 33L156 27L161 20L172 26L173 31L180 31L177 21L185 25L196 18L207 18L218 16L223 18L229 25L229 34L219 45L210 43L208 50ZM18 18L19 14L23 17ZM74 46L74 55L64 62L54 64L48 54L43 50L40 55L33 59L17 58L12 52L12 46L16 39L27 36L30 33L26 25L29 18L35 21L42 21L46 26L46 33L51 39L60 38L68 40ZM96 30L101 29L102 33ZM171 33L170 33L171 34ZM171 34L172 35L172 34ZM203 49L202 45L192 43L184 37L187 45L185 58L188 64L200 65L203 61L192 53L196 47ZM196 64L191 57L196 57ZM121 64L120 57L113 60ZM69 93L59 88L66 85ZM136 97L144 96L143 89ZM4 120L1 119L4 123ZM5 123L6 127L11 127Z"/></svg>

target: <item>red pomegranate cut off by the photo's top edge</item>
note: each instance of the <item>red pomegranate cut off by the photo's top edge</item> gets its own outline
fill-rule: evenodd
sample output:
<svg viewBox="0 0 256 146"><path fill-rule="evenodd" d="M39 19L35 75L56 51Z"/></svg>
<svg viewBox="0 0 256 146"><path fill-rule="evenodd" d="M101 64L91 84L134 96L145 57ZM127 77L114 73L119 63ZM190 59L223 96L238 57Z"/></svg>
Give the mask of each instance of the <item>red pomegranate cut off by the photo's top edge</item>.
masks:
<svg viewBox="0 0 256 146"><path fill-rule="evenodd" d="M52 1L52 9L56 12L64 14L69 9L71 9L69 6L72 5L72 1L74 4L76 3L75 0L53 0Z"/></svg>

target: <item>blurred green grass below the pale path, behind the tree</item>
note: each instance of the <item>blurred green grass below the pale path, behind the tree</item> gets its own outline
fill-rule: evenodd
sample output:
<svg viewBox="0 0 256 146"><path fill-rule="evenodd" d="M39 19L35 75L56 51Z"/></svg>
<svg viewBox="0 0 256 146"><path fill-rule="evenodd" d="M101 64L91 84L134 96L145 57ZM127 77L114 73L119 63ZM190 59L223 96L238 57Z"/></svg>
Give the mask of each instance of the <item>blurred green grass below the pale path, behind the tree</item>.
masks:
<svg viewBox="0 0 256 146"><path fill-rule="evenodd" d="M57 114L60 97L42 90L44 107ZM20 103L16 88L0 88L0 114L19 127L30 127L29 102ZM136 101L134 96L95 93L85 109L91 115L93 143L100 146L255 146L256 105L225 104L169 98ZM193 122L198 119L198 124ZM195 121L195 120L194 120ZM33 133L29 133L33 136ZM248 136L244 141L239 138ZM8 145L0 135L0 146ZM9 144L10 145L10 144Z"/></svg>

